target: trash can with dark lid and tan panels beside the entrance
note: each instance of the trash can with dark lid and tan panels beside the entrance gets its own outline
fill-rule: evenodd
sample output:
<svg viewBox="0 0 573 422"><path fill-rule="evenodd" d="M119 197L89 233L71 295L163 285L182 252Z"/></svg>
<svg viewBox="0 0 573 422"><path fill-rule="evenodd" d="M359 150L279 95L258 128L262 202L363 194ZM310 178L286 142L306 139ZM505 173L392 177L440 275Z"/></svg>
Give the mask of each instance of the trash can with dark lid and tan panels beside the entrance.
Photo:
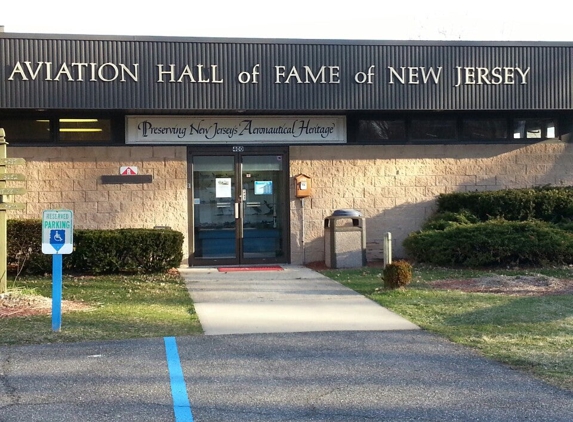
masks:
<svg viewBox="0 0 573 422"><path fill-rule="evenodd" d="M324 257L328 268L366 266L366 225L356 210L336 210L324 219Z"/></svg>

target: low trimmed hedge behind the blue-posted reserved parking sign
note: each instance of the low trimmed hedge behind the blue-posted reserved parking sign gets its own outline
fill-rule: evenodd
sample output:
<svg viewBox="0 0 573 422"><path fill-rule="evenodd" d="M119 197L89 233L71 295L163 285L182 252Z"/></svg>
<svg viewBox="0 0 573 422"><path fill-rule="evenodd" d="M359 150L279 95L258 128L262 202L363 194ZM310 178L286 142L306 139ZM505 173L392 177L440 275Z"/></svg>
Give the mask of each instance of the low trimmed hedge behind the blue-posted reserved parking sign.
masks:
<svg viewBox="0 0 573 422"><path fill-rule="evenodd" d="M42 253L40 220L8 220L8 267L12 272L50 273ZM179 267L183 234L164 229L74 230L74 252L65 270L83 274L162 272Z"/></svg>

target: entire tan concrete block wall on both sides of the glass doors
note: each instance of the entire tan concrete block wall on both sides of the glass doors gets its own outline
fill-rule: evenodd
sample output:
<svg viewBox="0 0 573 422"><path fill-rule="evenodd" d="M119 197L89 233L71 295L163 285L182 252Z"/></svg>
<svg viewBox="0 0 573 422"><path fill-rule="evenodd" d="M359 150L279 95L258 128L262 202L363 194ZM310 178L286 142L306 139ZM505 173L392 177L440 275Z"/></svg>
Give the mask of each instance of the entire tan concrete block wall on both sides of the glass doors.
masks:
<svg viewBox="0 0 573 422"><path fill-rule="evenodd" d="M26 159L8 172L24 173L21 211L8 218L42 217L45 209L74 211L76 228L170 226L185 235L188 250L187 155L185 146L8 147ZM149 184L104 185L102 175L137 166ZM368 260L383 258L392 233L394 257L402 242L434 212L440 193L540 185L573 185L570 144L432 146L292 146L290 148L291 262L324 261L324 219L352 208L365 218ZM312 177L313 196L294 197L297 174Z"/></svg>

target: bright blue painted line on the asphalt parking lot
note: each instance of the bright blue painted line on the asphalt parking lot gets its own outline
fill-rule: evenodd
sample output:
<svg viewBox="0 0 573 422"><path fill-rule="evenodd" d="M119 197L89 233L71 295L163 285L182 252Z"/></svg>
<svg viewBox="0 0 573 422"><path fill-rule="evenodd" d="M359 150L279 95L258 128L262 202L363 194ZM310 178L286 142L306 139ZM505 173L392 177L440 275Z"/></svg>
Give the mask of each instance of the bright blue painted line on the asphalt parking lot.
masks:
<svg viewBox="0 0 573 422"><path fill-rule="evenodd" d="M176 422L193 422L191 403L187 396L187 387L183 378L183 369L177 351L175 337L164 337L165 354L167 355L167 368L171 380L171 396L173 397L173 411Z"/></svg>

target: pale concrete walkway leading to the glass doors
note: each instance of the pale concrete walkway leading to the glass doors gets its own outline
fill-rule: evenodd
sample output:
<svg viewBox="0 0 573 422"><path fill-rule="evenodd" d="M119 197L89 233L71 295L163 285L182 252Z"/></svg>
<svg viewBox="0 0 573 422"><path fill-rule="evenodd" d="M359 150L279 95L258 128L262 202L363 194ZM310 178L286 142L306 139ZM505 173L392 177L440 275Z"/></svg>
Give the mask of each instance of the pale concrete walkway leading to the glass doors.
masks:
<svg viewBox="0 0 573 422"><path fill-rule="evenodd" d="M207 335L419 329L316 271L282 267L284 271L179 270Z"/></svg>

